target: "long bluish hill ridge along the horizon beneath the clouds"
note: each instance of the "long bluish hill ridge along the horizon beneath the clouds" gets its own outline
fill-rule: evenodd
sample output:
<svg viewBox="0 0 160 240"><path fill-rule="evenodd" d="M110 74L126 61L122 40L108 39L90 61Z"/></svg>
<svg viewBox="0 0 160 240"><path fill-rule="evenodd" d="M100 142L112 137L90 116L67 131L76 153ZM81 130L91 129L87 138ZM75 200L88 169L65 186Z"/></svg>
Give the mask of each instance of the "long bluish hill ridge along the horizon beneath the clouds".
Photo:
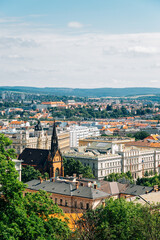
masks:
<svg viewBox="0 0 160 240"><path fill-rule="evenodd" d="M51 94L76 97L129 97L136 95L160 94L160 88L36 88L36 87L0 87L0 91Z"/></svg>

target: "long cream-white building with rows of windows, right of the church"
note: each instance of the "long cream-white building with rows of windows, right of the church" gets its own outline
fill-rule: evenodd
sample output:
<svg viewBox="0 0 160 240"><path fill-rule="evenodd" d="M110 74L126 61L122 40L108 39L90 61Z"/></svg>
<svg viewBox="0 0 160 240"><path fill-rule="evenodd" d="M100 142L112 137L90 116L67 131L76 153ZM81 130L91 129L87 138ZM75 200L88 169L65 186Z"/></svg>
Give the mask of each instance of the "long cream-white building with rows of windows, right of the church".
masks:
<svg viewBox="0 0 160 240"><path fill-rule="evenodd" d="M111 153L69 152L65 158L80 160L90 166L97 179L104 179L111 173L132 173L134 179L143 177L146 171L158 172L160 165L160 149L141 149L137 147L117 148L114 144Z"/></svg>

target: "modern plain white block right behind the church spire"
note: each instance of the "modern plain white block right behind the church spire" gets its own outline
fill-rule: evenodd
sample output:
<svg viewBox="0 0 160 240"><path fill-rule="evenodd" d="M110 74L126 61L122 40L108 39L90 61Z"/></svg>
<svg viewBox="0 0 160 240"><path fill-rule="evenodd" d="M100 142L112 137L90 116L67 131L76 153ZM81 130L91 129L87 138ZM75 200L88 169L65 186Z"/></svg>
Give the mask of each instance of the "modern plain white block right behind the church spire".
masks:
<svg viewBox="0 0 160 240"><path fill-rule="evenodd" d="M97 127L84 127L84 126L71 126L70 132L70 147L78 147L79 139L87 138L90 136L100 136L99 129Z"/></svg>

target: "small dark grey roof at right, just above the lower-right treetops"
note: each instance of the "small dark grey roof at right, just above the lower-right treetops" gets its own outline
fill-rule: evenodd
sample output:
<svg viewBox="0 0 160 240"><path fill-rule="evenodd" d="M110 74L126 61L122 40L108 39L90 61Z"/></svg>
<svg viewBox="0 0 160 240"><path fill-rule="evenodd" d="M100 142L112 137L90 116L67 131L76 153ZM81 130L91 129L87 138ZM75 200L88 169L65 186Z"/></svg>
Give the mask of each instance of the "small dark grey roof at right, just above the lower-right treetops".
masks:
<svg viewBox="0 0 160 240"><path fill-rule="evenodd" d="M143 195L146 193L146 191L152 192L153 191L153 187L147 187L147 186L140 186L140 185L129 185L129 187L121 192L124 194L128 194L128 195L134 195L134 196L138 196L138 195Z"/></svg>

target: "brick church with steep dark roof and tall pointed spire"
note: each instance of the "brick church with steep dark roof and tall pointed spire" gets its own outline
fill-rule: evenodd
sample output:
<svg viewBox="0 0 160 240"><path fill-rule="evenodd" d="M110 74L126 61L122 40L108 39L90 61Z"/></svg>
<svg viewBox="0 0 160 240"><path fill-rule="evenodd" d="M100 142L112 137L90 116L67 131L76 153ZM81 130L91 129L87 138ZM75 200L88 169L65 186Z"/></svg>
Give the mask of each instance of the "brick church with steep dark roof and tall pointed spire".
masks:
<svg viewBox="0 0 160 240"><path fill-rule="evenodd" d="M38 132L41 131L40 123L38 123L35 128L38 134ZM58 146L55 122L53 125L50 150L25 148L19 155L19 160L23 160L22 166L30 165L42 173L47 172L50 178L64 176L63 158Z"/></svg>

